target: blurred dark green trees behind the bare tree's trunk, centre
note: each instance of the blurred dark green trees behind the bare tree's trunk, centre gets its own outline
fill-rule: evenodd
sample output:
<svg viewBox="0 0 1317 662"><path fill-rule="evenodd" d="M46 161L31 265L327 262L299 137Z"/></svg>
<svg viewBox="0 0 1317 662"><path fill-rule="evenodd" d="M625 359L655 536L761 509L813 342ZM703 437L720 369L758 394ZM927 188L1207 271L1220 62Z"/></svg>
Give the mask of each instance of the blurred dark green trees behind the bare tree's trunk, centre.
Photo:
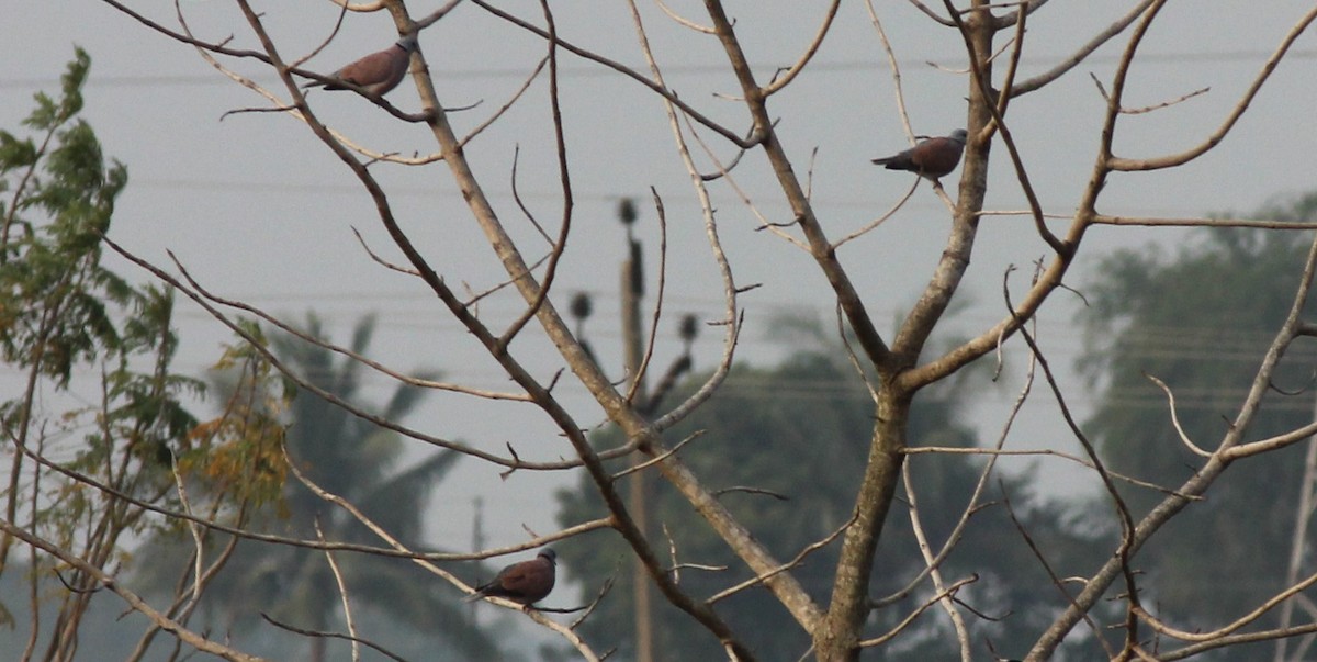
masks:
<svg viewBox="0 0 1317 662"><path fill-rule="evenodd" d="M686 464L711 481L711 488L752 487L781 495L785 500L748 492L727 492L722 500L777 558L790 559L806 545L824 538L849 518L872 435L872 402L849 365L838 363L842 352L826 348L802 351L773 369L738 367L710 402L673 431L672 439L699 433L682 451ZM690 393L702 377L690 380ZM936 389L935 389L936 390ZM960 406L954 390L925 393L914 407L910 440L915 446L964 447L973 434L959 422ZM605 435L601 446L616 439ZM921 517L935 545L955 526L979 477L981 460L963 456L914 456L910 459ZM614 467L620 469L620 467ZM1092 538L1076 535L1054 505L1030 497L1027 479L1002 479L1006 493L1025 526L1044 546L1065 547L1073 554L1060 563L1080 567L1093 546ZM624 491L623 491L624 492ZM996 492L996 491L992 491ZM602 504L587 480L558 495L560 524L598 517ZM726 545L690 510L689 504L660 485L653 497L656 530L676 543L680 562L740 567ZM666 551L666 542L656 542ZM556 545L560 568L578 582L585 595L598 591L605 578L616 578L610 595L582 626L599 649L619 646L622 659L631 659L632 591L630 555L620 537L598 533ZM810 555L795 576L820 604L827 604L839 543ZM666 554L662 555L665 560ZM909 512L893 510L884 529L871 595L893 593L923 567L914 545ZM1036 633L1060 604L1031 557L1026 543L1000 505L980 510L965 538L944 567L948 578L979 572L979 584L960 593L975 608L1009 615L1000 622L979 621L976 641L992 638L997 650L1026 650L1027 636ZM1064 570L1063 570L1064 571ZM697 597L710 596L748 579L744 572L681 571L682 587ZM893 628L931 595L927 582L910 599L874 612L868 636ZM743 633L764 659L797 659L810 646L807 634L764 588L743 591L718 603L718 612ZM657 605L656 649L658 659L720 659L711 638L691 637L687 616L666 603ZM934 609L897 644L873 649L873 659L951 659L955 637L944 616ZM986 655L986 650L980 649Z"/></svg>

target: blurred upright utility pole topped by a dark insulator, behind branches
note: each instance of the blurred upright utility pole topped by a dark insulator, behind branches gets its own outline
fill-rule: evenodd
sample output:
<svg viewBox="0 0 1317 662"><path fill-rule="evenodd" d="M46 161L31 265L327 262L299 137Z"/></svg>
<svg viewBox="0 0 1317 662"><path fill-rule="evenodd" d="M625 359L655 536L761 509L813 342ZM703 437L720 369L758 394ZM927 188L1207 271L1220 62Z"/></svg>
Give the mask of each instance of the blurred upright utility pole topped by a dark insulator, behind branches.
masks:
<svg viewBox="0 0 1317 662"><path fill-rule="evenodd" d="M640 364L644 361L644 328L641 327L640 301L645 294L644 262L641 261L640 241L636 240L632 226L636 222L636 206L630 198L623 198L618 206L618 220L627 227L627 260L622 262L622 342L626 352L628 386L633 392L633 402L644 404L649 397L645 393L645 384L640 375ZM645 462L644 455L636 454L633 464ZM631 517L636 522L640 533L649 538L649 475L645 471L631 473L630 497ZM649 574L645 572L644 563L636 559L631 572L632 589L635 597L635 626L636 626L636 662L653 662L655 636L653 636L653 596L651 593Z"/></svg>

